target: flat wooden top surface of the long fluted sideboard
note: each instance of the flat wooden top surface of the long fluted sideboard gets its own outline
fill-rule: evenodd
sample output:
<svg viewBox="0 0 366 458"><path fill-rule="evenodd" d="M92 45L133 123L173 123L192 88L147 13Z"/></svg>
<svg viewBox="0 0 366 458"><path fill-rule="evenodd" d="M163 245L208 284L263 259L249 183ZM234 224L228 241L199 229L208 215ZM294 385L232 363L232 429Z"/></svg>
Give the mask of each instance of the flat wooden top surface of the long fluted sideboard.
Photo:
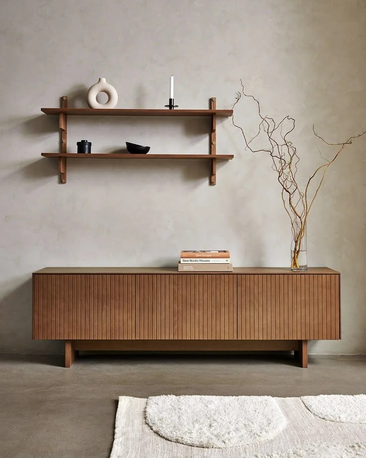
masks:
<svg viewBox="0 0 366 458"><path fill-rule="evenodd" d="M329 267L309 267L305 271L292 271L284 267L234 267L233 272L178 272L178 267L45 267L44 269L33 272L34 274L196 274L196 275L227 275L227 274L246 274L246 275L326 275L339 274L337 270Z"/></svg>

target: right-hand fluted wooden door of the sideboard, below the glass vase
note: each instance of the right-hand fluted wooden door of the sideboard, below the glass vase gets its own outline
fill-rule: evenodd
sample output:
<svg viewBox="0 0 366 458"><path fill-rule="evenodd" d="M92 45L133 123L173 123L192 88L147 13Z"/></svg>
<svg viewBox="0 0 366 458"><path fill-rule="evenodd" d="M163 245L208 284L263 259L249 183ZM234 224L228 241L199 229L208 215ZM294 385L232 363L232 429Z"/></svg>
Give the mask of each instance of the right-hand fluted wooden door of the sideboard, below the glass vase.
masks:
<svg viewBox="0 0 366 458"><path fill-rule="evenodd" d="M340 338L339 275L238 275L238 339Z"/></svg>

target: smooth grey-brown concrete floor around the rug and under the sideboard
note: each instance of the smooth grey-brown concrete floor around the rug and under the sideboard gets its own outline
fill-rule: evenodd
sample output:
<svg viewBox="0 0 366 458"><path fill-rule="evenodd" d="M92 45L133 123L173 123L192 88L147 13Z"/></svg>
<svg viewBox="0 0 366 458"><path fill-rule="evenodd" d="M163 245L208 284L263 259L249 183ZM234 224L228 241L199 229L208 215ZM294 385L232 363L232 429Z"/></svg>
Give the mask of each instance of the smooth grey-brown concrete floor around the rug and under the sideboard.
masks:
<svg viewBox="0 0 366 458"><path fill-rule="evenodd" d="M366 356L0 355L1 458L107 458L120 395L360 394ZM145 457L142 457L145 458ZM147 457L146 457L147 458Z"/></svg>

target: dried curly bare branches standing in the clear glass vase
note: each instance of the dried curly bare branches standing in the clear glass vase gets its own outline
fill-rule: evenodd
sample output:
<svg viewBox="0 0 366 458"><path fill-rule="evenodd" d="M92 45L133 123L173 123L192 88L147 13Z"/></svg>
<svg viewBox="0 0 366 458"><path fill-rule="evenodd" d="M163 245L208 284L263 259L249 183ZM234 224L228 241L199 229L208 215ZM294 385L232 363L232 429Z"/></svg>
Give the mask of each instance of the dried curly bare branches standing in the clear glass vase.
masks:
<svg viewBox="0 0 366 458"><path fill-rule="evenodd" d="M334 154L333 158L330 160L325 159L319 150L320 157L325 162L319 167L317 167L315 171L312 173L312 175L310 175L306 183L305 190L301 191L297 182L297 166L300 161L300 158L297 154L295 146L287 138L288 135L295 128L295 119L289 116L285 116L279 122L275 122L274 118L267 115L263 116L259 101L254 96L245 93L245 88L242 80L240 80L240 84L241 91L238 92L236 101L233 105L233 110L235 106L239 103L243 95L244 97L252 99L256 103L258 115L261 120L259 123L259 129L257 134L250 140L248 139L244 131L244 128L236 124L234 114L232 116L232 122L235 127L240 129L243 135L245 149L249 149L253 153L267 152L272 157L272 168L277 173L277 181L281 186L281 198L283 202L283 207L291 221L291 232L294 242L291 267L299 268L298 255L301 250L301 242L304 235L307 218L310 209L314 203L314 200L319 192L319 189L324 181L324 177L328 170L328 167L331 164L333 164L333 162L337 159L337 157L341 154L341 152L347 145L352 144L352 141L355 138L361 137L366 133L366 131L357 135L353 135L344 142L331 143L325 140L322 136L320 136L315 131L313 125L313 132L316 137L318 137L320 140L322 140L325 144L329 146L339 146L339 148L337 152ZM261 149L254 149L251 146L251 144L256 138L260 136L262 132L267 137L268 146L263 147ZM310 196L312 181L318 175L320 176L320 181L318 185L315 187L315 190L312 191L312 196Z"/></svg>

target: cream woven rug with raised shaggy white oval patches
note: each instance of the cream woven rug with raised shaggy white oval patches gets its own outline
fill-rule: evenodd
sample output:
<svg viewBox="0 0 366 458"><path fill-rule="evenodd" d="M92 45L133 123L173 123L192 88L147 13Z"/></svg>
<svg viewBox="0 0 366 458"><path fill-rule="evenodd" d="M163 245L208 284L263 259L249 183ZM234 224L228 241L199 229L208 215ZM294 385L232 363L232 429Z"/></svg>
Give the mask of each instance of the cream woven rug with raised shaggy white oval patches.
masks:
<svg viewBox="0 0 366 458"><path fill-rule="evenodd" d="M358 421L364 418L364 397L305 396L304 401L301 398L245 398L158 396L147 400L121 396L110 458L366 458L366 424ZM321 399L316 402L312 398ZM319 405L327 406L322 410L323 415L324 411L327 415L332 411L326 398L335 408L342 405L333 415L338 418L336 421L318 415L321 412ZM209 399L215 407L210 408ZM263 408L268 399L271 401L267 405L274 412L271 419ZM317 414L312 413L309 400L313 401L312 406L318 407ZM220 401L220 419L210 425L210 415L217 412ZM253 425L257 426L245 419L246 412L253 415L254 405L258 408L258 418L253 420ZM211 414L203 406L210 409ZM246 410L238 411L239 406ZM347 412L347 417L340 417L341 411ZM278 412L282 413L285 424ZM234 426L234 417L242 422L245 432ZM260 417L264 419L266 433L261 428ZM225 427L225 418L234 430ZM344 423L345 418L351 421ZM185 422L186 419L188 423L181 425L180 420ZM221 436L219 424L224 425ZM220 440L223 445L212 448L213 442L217 444L215 441ZM187 445L193 442L204 447ZM239 443L241 445L232 446Z"/></svg>

